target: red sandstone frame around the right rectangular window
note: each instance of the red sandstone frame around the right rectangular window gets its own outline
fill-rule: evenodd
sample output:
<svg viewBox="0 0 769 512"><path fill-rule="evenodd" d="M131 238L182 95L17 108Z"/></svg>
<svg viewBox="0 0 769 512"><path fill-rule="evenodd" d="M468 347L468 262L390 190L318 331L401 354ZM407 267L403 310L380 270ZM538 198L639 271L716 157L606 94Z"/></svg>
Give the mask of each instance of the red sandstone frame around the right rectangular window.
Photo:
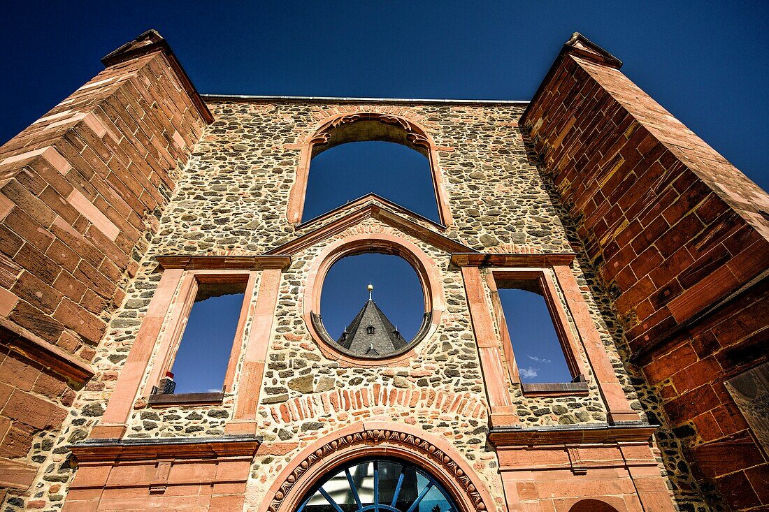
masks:
<svg viewBox="0 0 769 512"><path fill-rule="evenodd" d="M571 382L525 384L521 381L521 374L515 359L508 324L504 318L504 308L502 308L502 302L499 298L499 289L509 288L504 286L505 281L535 281L538 284L538 288L547 305L548 313L550 313L555 333L558 336L558 342L561 344L566 365L571 372ZM494 268L486 274L486 283L491 291L494 318L496 319L511 382L520 385L521 391L527 396L587 394L588 387L584 384L585 371L579 342L571 330L564 304L562 304L558 296L550 269Z"/></svg>

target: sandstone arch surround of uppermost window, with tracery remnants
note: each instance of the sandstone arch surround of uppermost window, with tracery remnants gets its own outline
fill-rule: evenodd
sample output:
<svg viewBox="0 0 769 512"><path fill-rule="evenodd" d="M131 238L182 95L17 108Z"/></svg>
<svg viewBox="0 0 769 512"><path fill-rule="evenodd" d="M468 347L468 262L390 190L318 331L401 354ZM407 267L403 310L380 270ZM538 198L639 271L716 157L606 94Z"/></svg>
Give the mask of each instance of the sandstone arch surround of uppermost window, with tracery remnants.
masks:
<svg viewBox="0 0 769 512"><path fill-rule="evenodd" d="M375 138L368 138L361 134L356 137L349 129L360 121L375 121L381 123L387 130L382 131ZM350 133L335 140L335 133L340 130L347 130ZM404 135L403 137L394 137L395 132ZM391 135L388 135L390 133ZM451 210L448 207L448 191L444 185L443 175L439 165L438 151L453 151L453 148L444 148L435 145L429 131L421 123L412 118L404 117L402 114L389 112L378 112L371 110L345 111L331 115L321 120L315 126L313 131L305 137L300 144L292 146L301 150L299 165L296 169L296 179L288 195L288 209L286 214L288 221L292 224L301 223L301 214L305 209L305 195L307 194L307 184L310 176L310 164L315 155L318 155L325 149L335 145L344 144L352 141L384 140L398 142L406 145L415 151L424 155L430 164L430 174L433 182L435 199L438 203L438 216L441 223L450 226L454 223L451 217Z"/></svg>

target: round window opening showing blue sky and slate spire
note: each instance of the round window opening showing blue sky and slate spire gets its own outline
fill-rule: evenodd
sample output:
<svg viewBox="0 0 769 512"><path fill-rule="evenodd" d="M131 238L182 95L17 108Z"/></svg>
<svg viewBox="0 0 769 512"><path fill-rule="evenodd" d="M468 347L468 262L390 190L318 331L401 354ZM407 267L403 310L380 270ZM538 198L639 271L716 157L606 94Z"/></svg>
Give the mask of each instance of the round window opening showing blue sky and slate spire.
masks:
<svg viewBox="0 0 769 512"><path fill-rule="evenodd" d="M427 318L418 275L392 254L341 258L323 281L321 318L338 350L356 357L399 354Z"/></svg>

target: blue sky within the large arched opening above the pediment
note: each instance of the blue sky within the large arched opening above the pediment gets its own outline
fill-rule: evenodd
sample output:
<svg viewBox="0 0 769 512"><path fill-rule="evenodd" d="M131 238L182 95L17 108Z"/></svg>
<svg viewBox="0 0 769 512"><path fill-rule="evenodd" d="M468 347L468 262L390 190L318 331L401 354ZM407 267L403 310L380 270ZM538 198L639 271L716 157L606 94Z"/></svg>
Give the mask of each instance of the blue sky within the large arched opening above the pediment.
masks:
<svg viewBox="0 0 769 512"><path fill-rule="evenodd" d="M430 162L422 151L390 141L351 142L328 151L325 146L311 161L302 221L370 193L441 221Z"/></svg>

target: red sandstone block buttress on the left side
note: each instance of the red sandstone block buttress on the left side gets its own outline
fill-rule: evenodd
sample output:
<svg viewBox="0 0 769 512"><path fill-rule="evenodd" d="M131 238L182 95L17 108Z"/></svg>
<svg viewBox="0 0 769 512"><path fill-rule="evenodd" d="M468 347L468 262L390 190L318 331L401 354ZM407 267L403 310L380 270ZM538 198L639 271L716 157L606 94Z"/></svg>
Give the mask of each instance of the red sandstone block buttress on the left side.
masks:
<svg viewBox="0 0 769 512"><path fill-rule="evenodd" d="M145 237L210 116L153 38L0 148L0 471L14 490L32 484L93 376Z"/></svg>

